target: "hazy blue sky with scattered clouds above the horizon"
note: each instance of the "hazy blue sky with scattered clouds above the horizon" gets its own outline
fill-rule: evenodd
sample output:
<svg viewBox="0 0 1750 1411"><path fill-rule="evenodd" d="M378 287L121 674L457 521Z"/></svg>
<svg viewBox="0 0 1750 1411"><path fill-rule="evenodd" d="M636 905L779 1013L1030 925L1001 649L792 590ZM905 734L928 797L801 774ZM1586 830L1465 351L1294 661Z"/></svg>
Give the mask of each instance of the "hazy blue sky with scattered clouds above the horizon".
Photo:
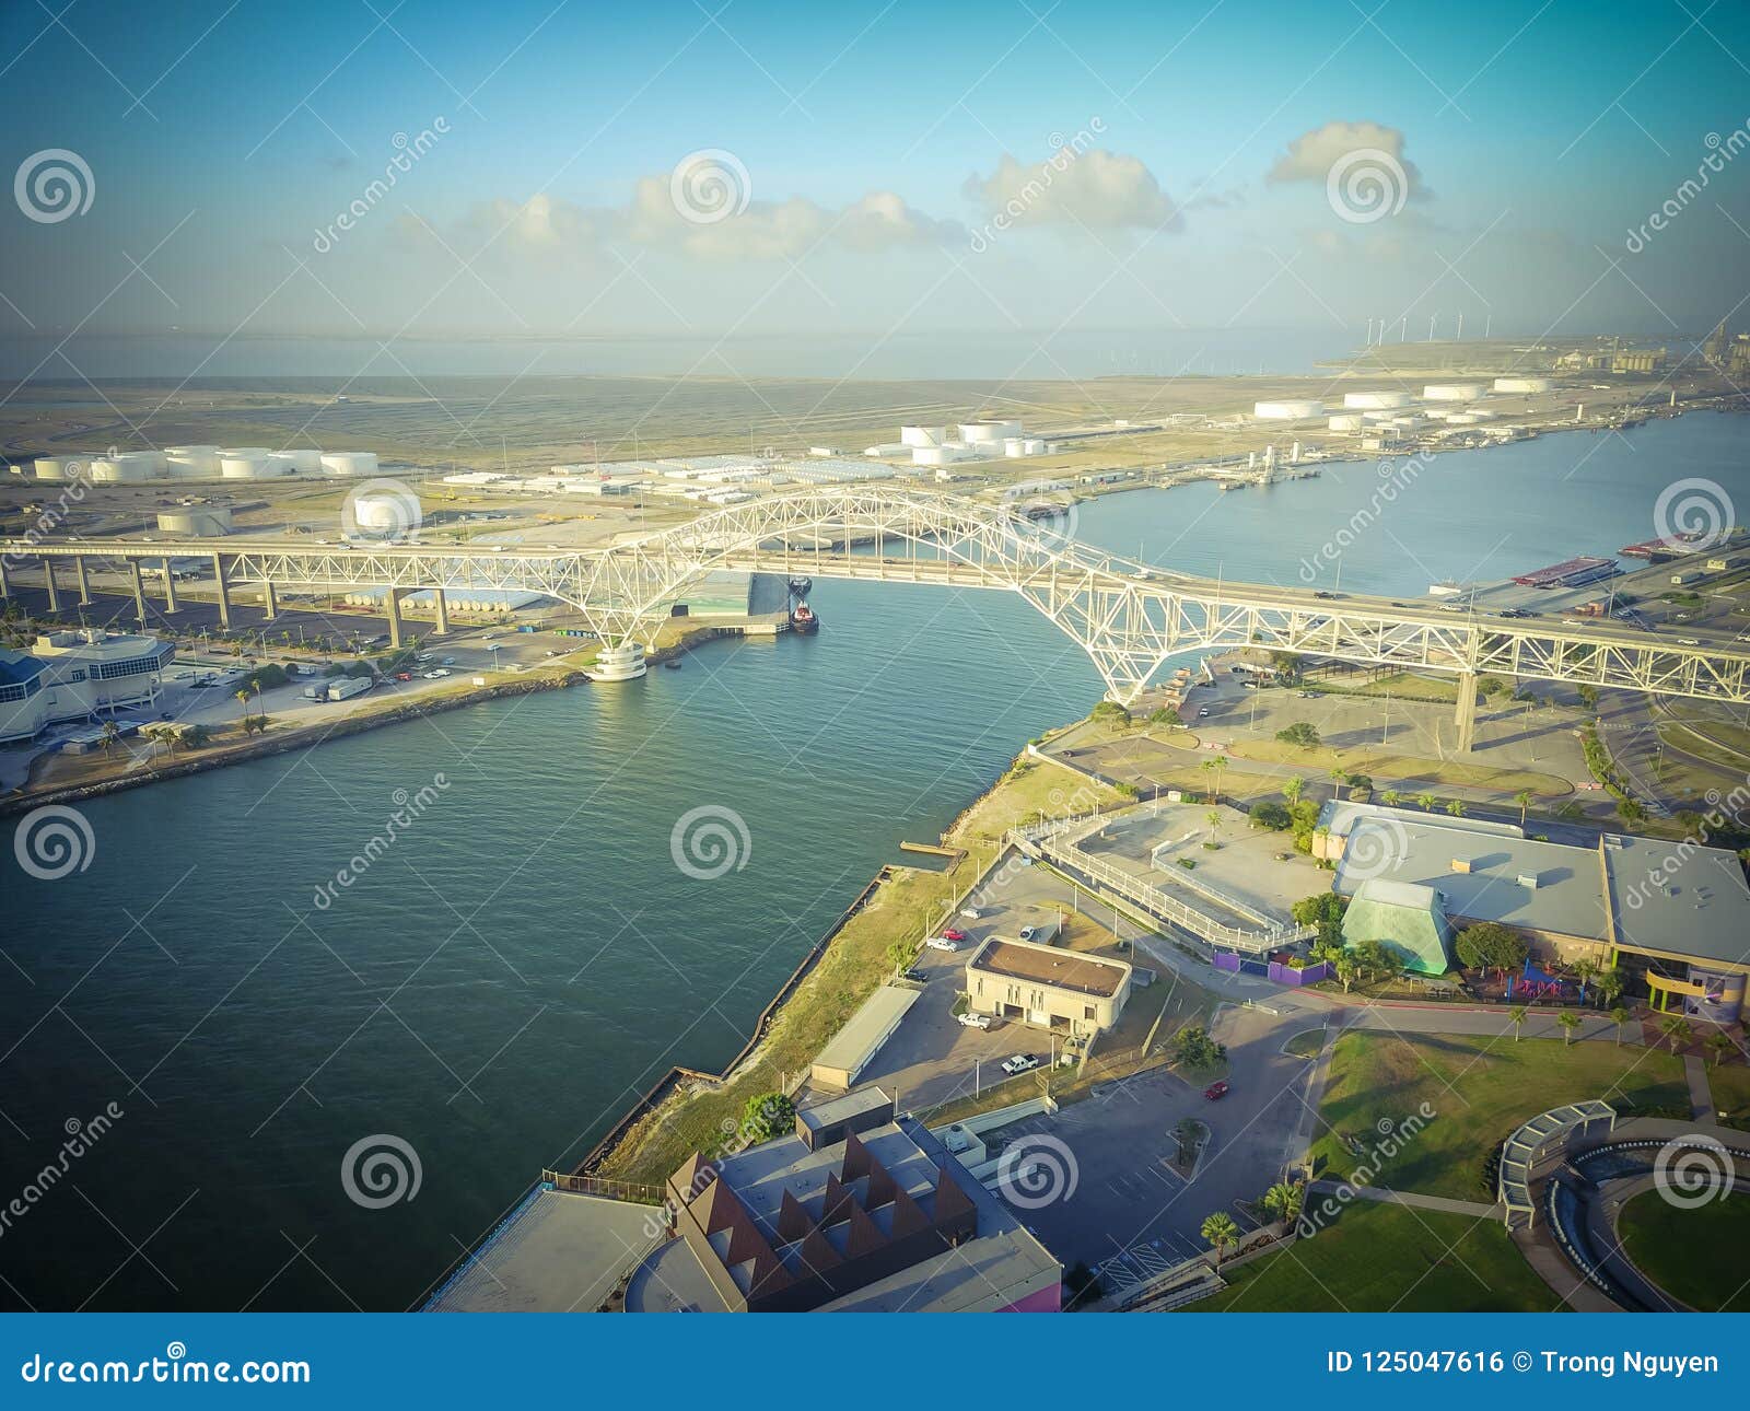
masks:
<svg viewBox="0 0 1750 1411"><path fill-rule="evenodd" d="M10 376L1676 343L1750 291L1732 4L9 0L0 56Z"/></svg>

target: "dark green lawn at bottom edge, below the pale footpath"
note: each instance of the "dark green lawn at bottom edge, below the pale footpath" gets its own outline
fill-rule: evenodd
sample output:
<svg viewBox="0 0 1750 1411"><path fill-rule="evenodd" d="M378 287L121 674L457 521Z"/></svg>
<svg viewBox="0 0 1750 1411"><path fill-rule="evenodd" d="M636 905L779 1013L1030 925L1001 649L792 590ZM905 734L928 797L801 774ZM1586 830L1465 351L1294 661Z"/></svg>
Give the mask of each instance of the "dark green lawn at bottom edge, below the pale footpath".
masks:
<svg viewBox="0 0 1750 1411"><path fill-rule="evenodd" d="M1356 1201L1281 1253L1223 1274L1186 1313L1545 1313L1561 1306L1498 1220Z"/></svg>

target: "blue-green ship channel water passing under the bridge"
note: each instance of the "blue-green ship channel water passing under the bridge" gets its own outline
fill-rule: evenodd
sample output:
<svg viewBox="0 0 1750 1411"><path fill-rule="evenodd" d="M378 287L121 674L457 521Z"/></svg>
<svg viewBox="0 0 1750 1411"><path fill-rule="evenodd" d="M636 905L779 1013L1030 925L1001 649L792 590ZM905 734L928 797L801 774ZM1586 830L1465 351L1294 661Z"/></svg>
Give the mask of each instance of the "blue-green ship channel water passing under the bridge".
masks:
<svg viewBox="0 0 1750 1411"><path fill-rule="evenodd" d="M1746 432L1692 415L1437 457L1348 548L1342 583L1421 593L1610 551L1654 532L1684 476L1750 506ZM1113 495L1076 529L1297 581L1377 480L1358 462ZM68 1119L122 1112L0 1225L0 1306L406 1306L668 1064L740 1049L901 839L933 839L1099 697L1076 648L1006 595L822 581L812 602L817 637L718 642L640 683L91 802L93 861L61 881L0 854L0 1208L60 1162ZM317 909L397 790L427 786ZM704 805L749 839L712 881L670 856ZM410 1143L422 1185L366 1210L341 1159L378 1133Z"/></svg>

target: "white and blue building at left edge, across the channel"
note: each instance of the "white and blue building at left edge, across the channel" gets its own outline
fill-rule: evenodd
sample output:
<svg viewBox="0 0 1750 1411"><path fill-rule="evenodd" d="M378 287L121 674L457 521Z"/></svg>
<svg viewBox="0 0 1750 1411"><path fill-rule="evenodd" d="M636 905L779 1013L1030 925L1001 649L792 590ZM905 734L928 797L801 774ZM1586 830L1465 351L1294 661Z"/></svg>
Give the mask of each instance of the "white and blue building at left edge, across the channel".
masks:
<svg viewBox="0 0 1750 1411"><path fill-rule="evenodd" d="M0 741L150 706L172 656L175 648L158 637L102 628L44 634L28 653L0 648Z"/></svg>

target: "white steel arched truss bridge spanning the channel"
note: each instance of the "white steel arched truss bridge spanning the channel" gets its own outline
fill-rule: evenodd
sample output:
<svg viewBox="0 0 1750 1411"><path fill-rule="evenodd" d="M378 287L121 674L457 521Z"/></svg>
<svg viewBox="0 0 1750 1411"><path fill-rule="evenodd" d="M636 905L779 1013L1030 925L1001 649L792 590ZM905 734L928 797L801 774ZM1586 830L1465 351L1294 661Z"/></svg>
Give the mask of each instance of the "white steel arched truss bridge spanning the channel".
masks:
<svg viewBox="0 0 1750 1411"><path fill-rule="evenodd" d="M686 525L590 550L308 539L7 541L10 562L203 557L226 581L324 592L536 592L578 607L609 642L654 634L677 595L714 569L1018 593L1132 702L1169 658L1253 646L1451 674L1592 684L1750 702L1750 648L1687 642L1578 618L1503 618L1320 599L1307 588L1216 583L1102 553L1008 508L917 490L831 487L768 495Z"/></svg>

